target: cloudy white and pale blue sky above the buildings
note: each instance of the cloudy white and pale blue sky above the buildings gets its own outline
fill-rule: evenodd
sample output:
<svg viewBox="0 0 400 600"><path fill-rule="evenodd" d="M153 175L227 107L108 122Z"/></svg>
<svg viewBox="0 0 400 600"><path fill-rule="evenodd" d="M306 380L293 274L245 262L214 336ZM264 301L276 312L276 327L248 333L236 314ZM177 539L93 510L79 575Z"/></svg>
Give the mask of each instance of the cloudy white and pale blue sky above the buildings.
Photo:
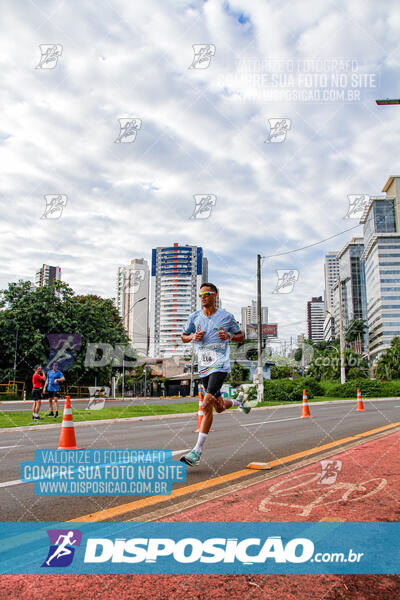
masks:
<svg viewBox="0 0 400 600"><path fill-rule="evenodd" d="M348 194L399 174L400 108L375 104L400 93L395 1L30 1L2 29L0 288L48 263L113 297L118 265L180 242L204 248L239 317L257 253L354 227ZM135 139L116 143L119 119ZM195 194L216 197L209 218L190 218ZM66 196L60 218L46 195ZM361 233L264 259L281 339L305 331L325 253ZM292 293L273 293L277 269L298 270Z"/></svg>

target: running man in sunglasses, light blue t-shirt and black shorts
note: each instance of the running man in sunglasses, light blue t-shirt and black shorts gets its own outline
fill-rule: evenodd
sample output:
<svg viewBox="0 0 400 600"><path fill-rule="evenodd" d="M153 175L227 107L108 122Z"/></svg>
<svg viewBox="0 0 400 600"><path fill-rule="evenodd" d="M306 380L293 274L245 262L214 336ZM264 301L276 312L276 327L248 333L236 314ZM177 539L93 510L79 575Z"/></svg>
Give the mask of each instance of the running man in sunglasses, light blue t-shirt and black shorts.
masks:
<svg viewBox="0 0 400 600"><path fill-rule="evenodd" d="M223 398L221 395L221 386L231 370L229 342L243 342L244 336L235 317L222 308L216 308L217 295L218 289L213 283L201 285L202 308L189 316L182 332L182 341L185 344L195 342L201 383L206 390L197 444L180 459L191 467L200 461L203 445L211 429L213 407L217 413L224 412L231 406L239 406L246 414L250 412L243 392L236 400Z"/></svg>

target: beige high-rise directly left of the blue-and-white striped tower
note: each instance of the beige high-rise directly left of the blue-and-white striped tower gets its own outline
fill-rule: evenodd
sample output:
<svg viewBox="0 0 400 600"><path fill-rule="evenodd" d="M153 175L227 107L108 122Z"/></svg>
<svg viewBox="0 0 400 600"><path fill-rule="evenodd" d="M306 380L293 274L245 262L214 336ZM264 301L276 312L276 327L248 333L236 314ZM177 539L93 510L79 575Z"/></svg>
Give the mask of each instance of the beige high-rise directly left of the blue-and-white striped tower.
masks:
<svg viewBox="0 0 400 600"><path fill-rule="evenodd" d="M132 346L138 354L148 353L149 264L134 258L118 268L116 305Z"/></svg>

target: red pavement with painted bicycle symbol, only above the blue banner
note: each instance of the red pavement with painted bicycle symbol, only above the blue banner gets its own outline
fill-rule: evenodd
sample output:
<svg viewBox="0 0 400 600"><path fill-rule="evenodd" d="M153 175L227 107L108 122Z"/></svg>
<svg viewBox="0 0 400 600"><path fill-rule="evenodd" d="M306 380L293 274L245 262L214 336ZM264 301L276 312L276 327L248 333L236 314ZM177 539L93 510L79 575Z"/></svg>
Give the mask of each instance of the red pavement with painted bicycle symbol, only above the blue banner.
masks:
<svg viewBox="0 0 400 600"><path fill-rule="evenodd" d="M397 521L399 500L397 431L162 520Z"/></svg>

